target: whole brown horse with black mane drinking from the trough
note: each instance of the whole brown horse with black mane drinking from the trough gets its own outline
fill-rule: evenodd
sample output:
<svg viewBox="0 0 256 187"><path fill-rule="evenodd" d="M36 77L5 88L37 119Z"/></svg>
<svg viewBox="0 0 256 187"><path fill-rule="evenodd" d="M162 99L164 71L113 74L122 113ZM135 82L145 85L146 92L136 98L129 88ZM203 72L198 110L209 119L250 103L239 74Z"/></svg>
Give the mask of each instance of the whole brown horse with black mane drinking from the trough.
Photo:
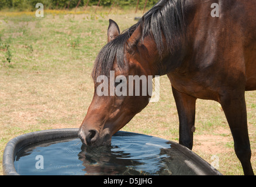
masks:
<svg viewBox="0 0 256 187"><path fill-rule="evenodd" d="M135 88L124 89L134 82L129 76L165 74L178 109L179 143L192 149L196 99L217 101L244 174L253 175L244 93L256 89L256 1L161 0L122 34L110 20L108 44L92 72L95 93L79 129L81 140L89 146L110 144L150 98L150 91L128 94ZM108 94L98 94L103 84ZM120 85L127 94L113 94Z"/></svg>

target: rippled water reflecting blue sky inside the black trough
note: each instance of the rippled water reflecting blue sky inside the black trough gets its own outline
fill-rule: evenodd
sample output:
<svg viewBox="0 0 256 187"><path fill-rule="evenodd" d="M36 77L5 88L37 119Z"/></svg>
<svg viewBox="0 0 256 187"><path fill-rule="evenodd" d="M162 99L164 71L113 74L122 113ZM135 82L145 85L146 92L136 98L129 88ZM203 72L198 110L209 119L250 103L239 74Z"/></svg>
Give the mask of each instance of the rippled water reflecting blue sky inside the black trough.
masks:
<svg viewBox="0 0 256 187"><path fill-rule="evenodd" d="M108 147L88 147L79 138L32 144L14 164L20 175L195 175L188 161L167 140L119 132Z"/></svg>

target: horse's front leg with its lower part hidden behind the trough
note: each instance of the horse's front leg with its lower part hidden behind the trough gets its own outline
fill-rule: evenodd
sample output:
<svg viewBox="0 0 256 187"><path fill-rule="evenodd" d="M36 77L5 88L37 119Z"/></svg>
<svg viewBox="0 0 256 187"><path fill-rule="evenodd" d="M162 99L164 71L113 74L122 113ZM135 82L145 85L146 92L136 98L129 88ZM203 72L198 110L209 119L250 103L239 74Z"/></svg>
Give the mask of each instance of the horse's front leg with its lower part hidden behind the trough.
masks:
<svg viewBox="0 0 256 187"><path fill-rule="evenodd" d="M196 98L172 87L179 116L179 144L192 150L195 131Z"/></svg>

